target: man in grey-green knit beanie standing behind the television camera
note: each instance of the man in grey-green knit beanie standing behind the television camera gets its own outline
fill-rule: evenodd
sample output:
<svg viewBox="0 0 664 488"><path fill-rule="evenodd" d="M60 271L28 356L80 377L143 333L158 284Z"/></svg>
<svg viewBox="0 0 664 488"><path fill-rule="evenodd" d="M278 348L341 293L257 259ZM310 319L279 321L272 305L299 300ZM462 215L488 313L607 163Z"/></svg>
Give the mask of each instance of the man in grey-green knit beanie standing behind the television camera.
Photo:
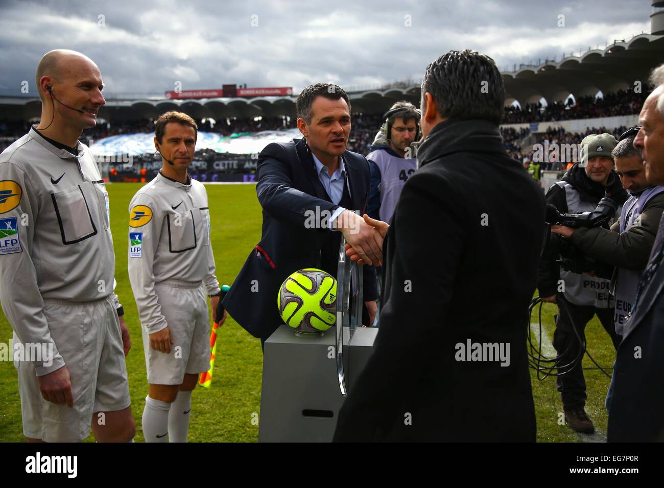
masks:
<svg viewBox="0 0 664 488"><path fill-rule="evenodd" d="M606 195L623 203L627 197L620 179L613 171L612 151L616 138L608 133L591 134L581 141L582 161L574 163L546 193L546 203L560 213L592 212ZM577 337L594 315L618 349L620 337L614 329L614 300L610 297L610 280L596 276L596 270L561 270L556 260L566 254L563 240L551 236L550 246L542 254L539 265L538 289L543 301L558 303L553 346L558 352L556 384L562 397L566 422L576 432L592 434L595 427L584 409L586 380L582 369L582 345ZM564 256L563 256L564 257ZM559 287L559 282L562 287ZM556 293L558 291L558 293ZM574 328L573 328L574 327ZM576 329L576 332L575 332Z"/></svg>

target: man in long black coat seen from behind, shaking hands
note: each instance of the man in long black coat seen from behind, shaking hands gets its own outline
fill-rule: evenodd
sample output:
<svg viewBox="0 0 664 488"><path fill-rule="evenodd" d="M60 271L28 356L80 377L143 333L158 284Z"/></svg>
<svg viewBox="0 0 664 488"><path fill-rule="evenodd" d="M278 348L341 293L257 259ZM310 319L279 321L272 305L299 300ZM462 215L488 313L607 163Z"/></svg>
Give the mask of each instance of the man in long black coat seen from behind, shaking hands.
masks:
<svg viewBox="0 0 664 488"><path fill-rule="evenodd" d="M525 335L544 197L505 152L504 102L487 56L426 70L420 169L386 234L380 328L335 441L535 441Z"/></svg>

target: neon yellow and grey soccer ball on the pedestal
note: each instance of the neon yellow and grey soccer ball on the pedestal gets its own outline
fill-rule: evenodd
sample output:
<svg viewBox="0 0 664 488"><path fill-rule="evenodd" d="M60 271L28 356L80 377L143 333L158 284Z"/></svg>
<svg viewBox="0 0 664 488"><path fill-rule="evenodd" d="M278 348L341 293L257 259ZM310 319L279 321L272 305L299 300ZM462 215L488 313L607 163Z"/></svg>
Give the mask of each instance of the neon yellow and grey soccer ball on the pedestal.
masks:
<svg viewBox="0 0 664 488"><path fill-rule="evenodd" d="M282 320L295 331L327 331L337 321L337 280L315 268L296 271L280 287L277 306Z"/></svg>

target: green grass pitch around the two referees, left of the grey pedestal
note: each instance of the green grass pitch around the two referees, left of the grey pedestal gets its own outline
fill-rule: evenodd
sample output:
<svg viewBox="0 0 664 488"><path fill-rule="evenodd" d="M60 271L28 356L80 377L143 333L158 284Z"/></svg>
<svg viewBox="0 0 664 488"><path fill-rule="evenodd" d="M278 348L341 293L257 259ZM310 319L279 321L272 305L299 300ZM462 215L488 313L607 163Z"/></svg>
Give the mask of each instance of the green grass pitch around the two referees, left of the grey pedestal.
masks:
<svg viewBox="0 0 664 488"><path fill-rule="evenodd" d="M140 183L108 185L111 229L116 249L116 280L125 321L131 334L127 356L131 412L137 426L136 442L143 442L141 416L147 395L147 377L141 325L127 276L128 206ZM232 284L250 250L260 239L261 210L254 185L208 185L211 241L220 284ZM11 327L0 313L0 343L9 344ZM196 388L189 428L191 442L256 442L260 413L263 356L254 339L230 317L218 329L211 388ZM11 361L0 361L0 442L23 442L21 400ZM94 440L92 436L88 440Z"/></svg>

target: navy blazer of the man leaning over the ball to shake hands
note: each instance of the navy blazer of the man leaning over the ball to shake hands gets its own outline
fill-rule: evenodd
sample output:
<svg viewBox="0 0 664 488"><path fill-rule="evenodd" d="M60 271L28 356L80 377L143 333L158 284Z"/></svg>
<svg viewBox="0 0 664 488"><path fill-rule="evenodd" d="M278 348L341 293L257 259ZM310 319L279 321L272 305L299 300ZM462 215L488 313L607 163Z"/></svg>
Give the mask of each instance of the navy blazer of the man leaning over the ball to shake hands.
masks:
<svg viewBox="0 0 664 488"><path fill-rule="evenodd" d="M353 202L349 210L366 212L369 163L351 151L345 151L343 159ZM306 228L307 210L333 213L339 205L331 202L321 184L304 138L271 143L261 151L256 193L263 208L262 236L223 304L250 334L267 339L283 323L277 309L279 287L297 270L319 268L321 248L331 233L340 234ZM376 299L375 282L365 280L364 287L365 301Z"/></svg>

